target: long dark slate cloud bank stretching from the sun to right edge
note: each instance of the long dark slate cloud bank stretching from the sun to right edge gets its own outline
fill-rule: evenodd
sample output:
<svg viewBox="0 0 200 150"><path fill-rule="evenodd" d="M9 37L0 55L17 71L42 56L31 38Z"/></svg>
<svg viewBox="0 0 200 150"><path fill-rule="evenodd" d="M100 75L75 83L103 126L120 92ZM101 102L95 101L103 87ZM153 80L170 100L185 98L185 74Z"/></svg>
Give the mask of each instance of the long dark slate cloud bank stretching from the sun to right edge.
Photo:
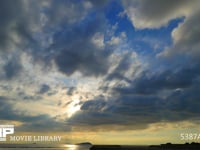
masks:
<svg viewBox="0 0 200 150"><path fill-rule="evenodd" d="M85 102L81 111L67 122L75 126L124 126L144 129L151 123L176 122L199 118L199 87L173 92L167 98L158 96L121 95L116 99ZM195 89L195 90L194 90ZM191 97L190 97L191 96Z"/></svg>

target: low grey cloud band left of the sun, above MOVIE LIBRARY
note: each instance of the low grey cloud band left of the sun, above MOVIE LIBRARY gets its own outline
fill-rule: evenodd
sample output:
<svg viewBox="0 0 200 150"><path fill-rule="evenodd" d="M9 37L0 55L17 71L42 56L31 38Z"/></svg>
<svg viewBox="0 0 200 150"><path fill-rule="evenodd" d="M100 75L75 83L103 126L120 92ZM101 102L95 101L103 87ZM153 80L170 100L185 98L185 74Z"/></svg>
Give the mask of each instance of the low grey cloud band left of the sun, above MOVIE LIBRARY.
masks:
<svg viewBox="0 0 200 150"><path fill-rule="evenodd" d="M47 114L28 115L26 112L21 112L14 108L15 103L12 99L0 96L0 119L9 121L22 122L17 126L18 131L69 131L70 127L66 123L56 121L54 117Z"/></svg>

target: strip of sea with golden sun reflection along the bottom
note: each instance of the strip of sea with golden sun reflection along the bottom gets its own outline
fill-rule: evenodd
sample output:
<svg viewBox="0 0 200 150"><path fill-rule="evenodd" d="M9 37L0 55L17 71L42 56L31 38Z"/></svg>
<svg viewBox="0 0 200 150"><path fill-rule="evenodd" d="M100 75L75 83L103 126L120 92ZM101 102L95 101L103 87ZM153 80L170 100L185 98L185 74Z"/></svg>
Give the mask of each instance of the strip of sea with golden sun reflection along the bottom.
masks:
<svg viewBox="0 0 200 150"><path fill-rule="evenodd" d="M89 150L89 145L0 144L0 150Z"/></svg>

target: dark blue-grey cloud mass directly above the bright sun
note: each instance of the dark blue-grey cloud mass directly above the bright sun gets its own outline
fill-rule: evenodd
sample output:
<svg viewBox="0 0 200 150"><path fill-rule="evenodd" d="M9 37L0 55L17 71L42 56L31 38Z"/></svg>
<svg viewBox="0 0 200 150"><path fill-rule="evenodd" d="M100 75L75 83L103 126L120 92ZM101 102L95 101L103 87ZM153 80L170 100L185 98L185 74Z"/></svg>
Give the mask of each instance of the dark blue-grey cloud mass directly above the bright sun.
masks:
<svg viewBox="0 0 200 150"><path fill-rule="evenodd" d="M75 71L83 75L102 75L109 68L109 49L98 50L92 43L92 37L101 31L103 20L101 16L74 27L64 27L62 32L54 35L52 48L58 51L55 62L59 70L67 75ZM69 30L70 29L70 30Z"/></svg>

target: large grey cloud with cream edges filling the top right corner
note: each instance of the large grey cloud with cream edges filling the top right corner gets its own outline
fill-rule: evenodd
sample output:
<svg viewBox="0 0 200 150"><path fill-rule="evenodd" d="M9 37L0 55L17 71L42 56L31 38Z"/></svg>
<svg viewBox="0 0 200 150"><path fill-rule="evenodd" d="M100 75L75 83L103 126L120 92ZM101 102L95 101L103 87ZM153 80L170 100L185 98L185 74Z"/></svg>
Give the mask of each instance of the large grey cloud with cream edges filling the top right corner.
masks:
<svg viewBox="0 0 200 150"><path fill-rule="evenodd" d="M125 12L135 28L160 28L167 26L173 19L184 17L171 34L173 45L167 47L158 56L172 57L188 55L195 59L199 57L199 1L198 0L142 0L122 1ZM183 54L184 53L184 54Z"/></svg>

